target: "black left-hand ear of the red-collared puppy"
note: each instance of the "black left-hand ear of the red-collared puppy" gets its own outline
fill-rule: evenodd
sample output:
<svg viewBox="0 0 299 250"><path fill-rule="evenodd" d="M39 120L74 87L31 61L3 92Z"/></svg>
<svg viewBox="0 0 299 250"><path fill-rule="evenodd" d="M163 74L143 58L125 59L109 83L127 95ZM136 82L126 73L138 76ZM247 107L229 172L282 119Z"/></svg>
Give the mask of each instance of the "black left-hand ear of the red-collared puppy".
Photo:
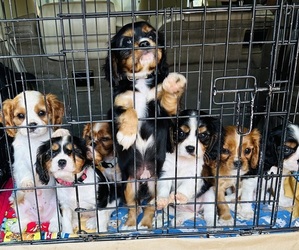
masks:
<svg viewBox="0 0 299 250"><path fill-rule="evenodd" d="M47 169L47 160L50 160L50 158L47 157L48 146L50 146L50 144L46 143L37 149L35 163L36 173L39 176L40 181L45 185L50 181L49 171Z"/></svg>

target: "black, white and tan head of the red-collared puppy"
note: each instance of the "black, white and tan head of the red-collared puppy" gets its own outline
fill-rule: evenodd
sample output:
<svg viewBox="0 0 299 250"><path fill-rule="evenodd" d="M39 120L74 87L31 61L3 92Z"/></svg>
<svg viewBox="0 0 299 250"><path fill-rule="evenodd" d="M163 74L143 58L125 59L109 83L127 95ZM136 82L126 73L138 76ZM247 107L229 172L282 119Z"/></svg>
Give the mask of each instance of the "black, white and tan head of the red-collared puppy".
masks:
<svg viewBox="0 0 299 250"><path fill-rule="evenodd" d="M53 137L37 150L36 172L42 183L50 176L73 182L75 174L83 171L87 163L85 140L75 136Z"/></svg>

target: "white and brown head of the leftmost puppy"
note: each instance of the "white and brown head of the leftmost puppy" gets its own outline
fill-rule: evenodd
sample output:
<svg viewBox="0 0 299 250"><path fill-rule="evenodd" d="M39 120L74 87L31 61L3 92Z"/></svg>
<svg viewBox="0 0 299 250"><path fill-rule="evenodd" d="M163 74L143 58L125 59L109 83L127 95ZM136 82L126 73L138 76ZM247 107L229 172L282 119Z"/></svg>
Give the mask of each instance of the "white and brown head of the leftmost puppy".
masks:
<svg viewBox="0 0 299 250"><path fill-rule="evenodd" d="M22 126L19 129L7 129L11 137L17 132L23 136L29 133L31 137L43 135L48 132L43 125L61 124L64 113L64 106L55 95L44 96L38 91L24 91L14 99L7 99L2 109L5 126Z"/></svg>

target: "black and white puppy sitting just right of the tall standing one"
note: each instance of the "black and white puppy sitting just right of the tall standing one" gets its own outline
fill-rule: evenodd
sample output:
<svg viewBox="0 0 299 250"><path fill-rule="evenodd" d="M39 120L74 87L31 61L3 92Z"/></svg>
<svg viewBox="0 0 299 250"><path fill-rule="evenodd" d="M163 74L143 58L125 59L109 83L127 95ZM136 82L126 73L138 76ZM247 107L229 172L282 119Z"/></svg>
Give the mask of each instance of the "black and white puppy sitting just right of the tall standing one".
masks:
<svg viewBox="0 0 299 250"><path fill-rule="evenodd" d="M220 123L201 115L198 110L184 110L179 114L174 130L175 150L166 154L157 183L157 209L170 203L180 204L176 206L177 224L203 210L207 225L212 226L216 213L215 193L204 181L202 170L205 158L209 159L217 150Z"/></svg>

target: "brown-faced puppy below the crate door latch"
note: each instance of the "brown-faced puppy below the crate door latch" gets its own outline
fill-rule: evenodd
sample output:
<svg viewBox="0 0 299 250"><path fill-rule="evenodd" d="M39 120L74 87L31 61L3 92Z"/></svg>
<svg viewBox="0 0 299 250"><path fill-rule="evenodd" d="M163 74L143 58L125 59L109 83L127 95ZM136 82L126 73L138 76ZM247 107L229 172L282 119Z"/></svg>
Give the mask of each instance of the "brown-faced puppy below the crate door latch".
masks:
<svg viewBox="0 0 299 250"><path fill-rule="evenodd" d="M214 185L216 185L217 192L218 222L223 225L233 224L230 208L225 198L226 191L230 188L238 189L239 194L236 195L240 196L241 201L239 214L247 218L253 215L251 204L242 203L242 201L252 201L255 187L250 184L250 181L254 178L244 177L258 167L261 136L257 129L248 132L244 128L244 132L245 134L241 135L237 127L225 127L220 162L215 161L214 166L211 166L213 175L217 178Z"/></svg>

